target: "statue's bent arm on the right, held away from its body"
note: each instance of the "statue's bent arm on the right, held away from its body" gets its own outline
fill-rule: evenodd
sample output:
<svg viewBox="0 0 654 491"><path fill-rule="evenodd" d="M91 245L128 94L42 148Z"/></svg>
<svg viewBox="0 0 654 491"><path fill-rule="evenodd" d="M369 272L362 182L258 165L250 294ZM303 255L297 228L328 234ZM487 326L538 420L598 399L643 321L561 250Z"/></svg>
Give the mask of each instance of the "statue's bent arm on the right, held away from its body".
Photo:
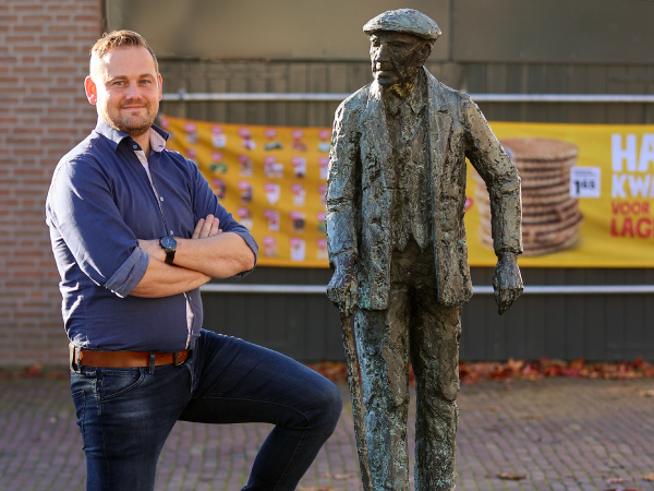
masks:
<svg viewBox="0 0 654 491"><path fill-rule="evenodd" d="M518 267L522 253L520 177L511 159L472 100L465 103L469 151L467 157L480 173L491 199L491 227L497 264L493 289L498 312L506 312L523 290Z"/></svg>

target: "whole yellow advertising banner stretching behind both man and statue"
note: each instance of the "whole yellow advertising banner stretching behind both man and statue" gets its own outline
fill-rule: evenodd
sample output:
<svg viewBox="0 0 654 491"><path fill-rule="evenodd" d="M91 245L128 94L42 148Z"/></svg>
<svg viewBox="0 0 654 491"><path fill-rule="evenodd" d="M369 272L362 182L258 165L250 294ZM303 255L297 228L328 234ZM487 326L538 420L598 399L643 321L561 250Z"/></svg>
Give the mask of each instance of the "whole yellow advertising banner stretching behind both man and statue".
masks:
<svg viewBox="0 0 654 491"><path fill-rule="evenodd" d="M195 161L259 244L259 265L327 267L330 128L162 117L168 147ZM492 122L520 171L521 266L654 266L654 127ZM472 266L493 266L489 204L469 166Z"/></svg>

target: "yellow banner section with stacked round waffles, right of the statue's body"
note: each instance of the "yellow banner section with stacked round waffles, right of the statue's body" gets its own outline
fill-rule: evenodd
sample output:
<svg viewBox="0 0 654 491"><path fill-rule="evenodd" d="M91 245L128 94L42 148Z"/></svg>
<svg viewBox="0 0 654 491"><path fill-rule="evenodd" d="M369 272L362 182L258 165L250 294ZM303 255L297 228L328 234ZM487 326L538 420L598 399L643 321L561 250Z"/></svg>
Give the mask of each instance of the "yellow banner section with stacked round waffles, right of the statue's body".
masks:
<svg viewBox="0 0 654 491"><path fill-rule="evenodd" d="M491 127L522 179L521 266L654 266L654 125ZM491 266L487 197L473 172L468 197L470 263Z"/></svg>

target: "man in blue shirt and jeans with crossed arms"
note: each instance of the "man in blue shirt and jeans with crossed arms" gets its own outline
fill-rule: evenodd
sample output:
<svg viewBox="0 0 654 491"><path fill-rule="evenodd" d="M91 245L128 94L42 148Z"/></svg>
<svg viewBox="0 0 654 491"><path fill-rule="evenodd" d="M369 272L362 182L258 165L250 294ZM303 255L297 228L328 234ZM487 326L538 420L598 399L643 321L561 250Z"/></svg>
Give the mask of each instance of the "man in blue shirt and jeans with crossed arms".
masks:
<svg viewBox="0 0 654 491"><path fill-rule="evenodd" d="M201 331L198 287L250 272L257 244L197 167L165 148L145 39L99 39L84 85L98 123L57 166L46 216L87 489L153 490L177 420L275 424L243 489L295 489L337 423L340 393L282 355Z"/></svg>

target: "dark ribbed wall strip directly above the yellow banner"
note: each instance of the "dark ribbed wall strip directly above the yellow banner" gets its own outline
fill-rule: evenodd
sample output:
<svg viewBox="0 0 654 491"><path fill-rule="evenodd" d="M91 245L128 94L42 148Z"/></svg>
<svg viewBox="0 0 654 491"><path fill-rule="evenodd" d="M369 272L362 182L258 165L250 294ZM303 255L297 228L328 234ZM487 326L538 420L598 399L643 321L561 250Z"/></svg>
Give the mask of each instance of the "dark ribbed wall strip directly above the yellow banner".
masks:
<svg viewBox="0 0 654 491"><path fill-rule="evenodd" d="M444 83L473 94L654 94L650 65L547 63L439 63L427 68ZM372 79L361 62L161 62L164 91L271 92L349 94ZM175 103L165 101L170 116L244 124L330 127L338 103ZM650 124L650 104L481 103L488 120Z"/></svg>

